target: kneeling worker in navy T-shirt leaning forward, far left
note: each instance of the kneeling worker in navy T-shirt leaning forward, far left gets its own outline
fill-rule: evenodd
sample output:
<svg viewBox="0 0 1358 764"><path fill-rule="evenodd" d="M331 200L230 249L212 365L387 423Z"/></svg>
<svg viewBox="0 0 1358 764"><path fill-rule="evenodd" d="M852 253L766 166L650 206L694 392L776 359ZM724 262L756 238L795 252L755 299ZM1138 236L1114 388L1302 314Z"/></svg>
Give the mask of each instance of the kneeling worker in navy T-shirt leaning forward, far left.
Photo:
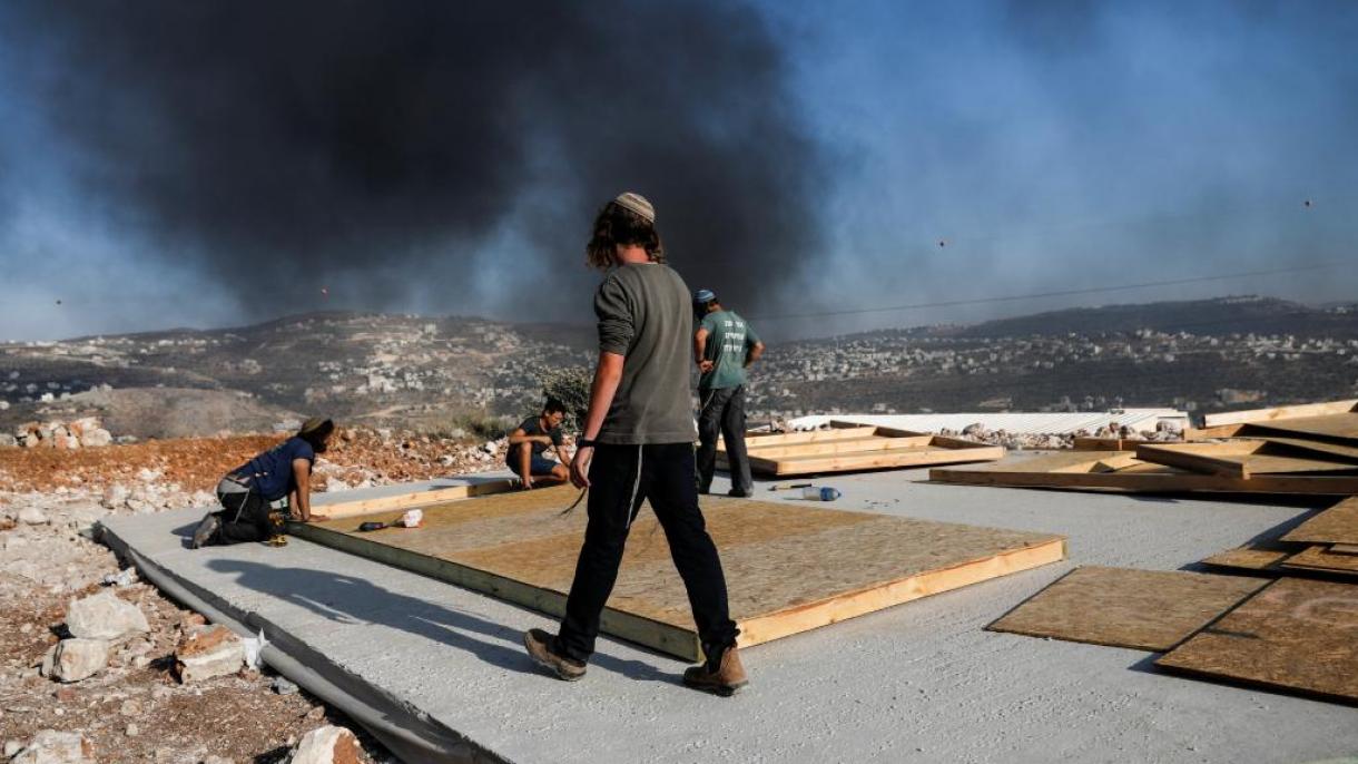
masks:
<svg viewBox="0 0 1358 764"><path fill-rule="evenodd" d="M326 519L311 513L311 465L325 453L334 423L308 419L296 435L231 470L217 484L221 508L202 518L193 548L265 541L272 536L269 506L288 499L293 519Z"/></svg>

